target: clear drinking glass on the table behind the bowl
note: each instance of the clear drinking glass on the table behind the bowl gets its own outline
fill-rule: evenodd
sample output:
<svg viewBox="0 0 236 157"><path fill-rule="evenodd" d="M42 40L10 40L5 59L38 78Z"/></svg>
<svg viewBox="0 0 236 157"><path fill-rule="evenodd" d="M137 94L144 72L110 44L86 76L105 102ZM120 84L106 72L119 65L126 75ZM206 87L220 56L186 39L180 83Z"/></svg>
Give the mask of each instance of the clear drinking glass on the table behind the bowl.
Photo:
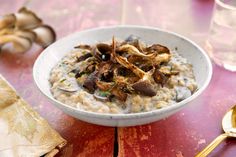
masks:
<svg viewBox="0 0 236 157"><path fill-rule="evenodd" d="M215 0L206 49L216 64L236 71L236 0Z"/></svg>

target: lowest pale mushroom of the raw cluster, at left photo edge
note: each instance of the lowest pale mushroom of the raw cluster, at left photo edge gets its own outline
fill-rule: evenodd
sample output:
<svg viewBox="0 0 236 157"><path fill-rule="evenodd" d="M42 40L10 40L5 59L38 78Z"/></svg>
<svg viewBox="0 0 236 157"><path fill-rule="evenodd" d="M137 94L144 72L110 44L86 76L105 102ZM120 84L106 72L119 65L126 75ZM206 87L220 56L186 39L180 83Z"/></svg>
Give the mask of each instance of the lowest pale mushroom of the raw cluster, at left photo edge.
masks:
<svg viewBox="0 0 236 157"><path fill-rule="evenodd" d="M32 42L28 38L19 37L16 35L3 35L0 38L0 45L5 45L7 43L13 43L13 50L18 53L23 53L30 49ZM9 48L9 47L8 47Z"/></svg>

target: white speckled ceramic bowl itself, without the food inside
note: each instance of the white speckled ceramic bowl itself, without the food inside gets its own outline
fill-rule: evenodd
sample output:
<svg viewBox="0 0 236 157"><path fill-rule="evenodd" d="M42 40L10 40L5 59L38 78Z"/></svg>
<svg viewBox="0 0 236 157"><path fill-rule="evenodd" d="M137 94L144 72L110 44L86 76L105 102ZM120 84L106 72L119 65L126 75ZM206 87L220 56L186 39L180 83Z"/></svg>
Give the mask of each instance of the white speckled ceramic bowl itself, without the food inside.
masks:
<svg viewBox="0 0 236 157"><path fill-rule="evenodd" d="M159 43L171 50L177 47L177 52L187 58L193 65L199 90L189 98L166 108L131 114L102 114L82 111L53 98L48 81L50 71L75 45L78 43L94 44L96 42L108 41L111 40L112 36L125 39L131 34L140 37L147 44ZM199 46L176 33L150 27L115 26L86 30L58 40L40 54L34 64L33 76L40 91L58 108L73 117L105 126L134 126L147 124L170 116L198 97L210 82L212 65L206 53Z"/></svg>

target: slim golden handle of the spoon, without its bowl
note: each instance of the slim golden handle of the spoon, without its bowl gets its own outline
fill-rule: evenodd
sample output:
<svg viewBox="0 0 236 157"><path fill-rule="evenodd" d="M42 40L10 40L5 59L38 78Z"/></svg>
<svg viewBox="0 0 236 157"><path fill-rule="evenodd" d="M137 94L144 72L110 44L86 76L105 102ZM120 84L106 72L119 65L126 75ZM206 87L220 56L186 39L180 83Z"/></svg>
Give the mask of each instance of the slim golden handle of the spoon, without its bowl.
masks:
<svg viewBox="0 0 236 157"><path fill-rule="evenodd" d="M221 134L214 141L212 141L205 149L198 153L195 157L206 157L210 152L213 151L224 139L228 137L227 134Z"/></svg>

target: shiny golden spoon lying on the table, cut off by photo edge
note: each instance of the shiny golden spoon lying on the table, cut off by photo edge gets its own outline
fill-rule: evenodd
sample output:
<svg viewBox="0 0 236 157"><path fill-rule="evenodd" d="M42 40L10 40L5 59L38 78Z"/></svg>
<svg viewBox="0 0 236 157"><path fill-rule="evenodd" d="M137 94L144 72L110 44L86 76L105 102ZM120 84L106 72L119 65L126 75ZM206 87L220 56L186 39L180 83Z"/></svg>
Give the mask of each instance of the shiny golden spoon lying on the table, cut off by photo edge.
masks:
<svg viewBox="0 0 236 157"><path fill-rule="evenodd" d="M236 137L236 105L229 110L222 119L222 128L225 133L218 136L195 157L206 157L227 137Z"/></svg>

